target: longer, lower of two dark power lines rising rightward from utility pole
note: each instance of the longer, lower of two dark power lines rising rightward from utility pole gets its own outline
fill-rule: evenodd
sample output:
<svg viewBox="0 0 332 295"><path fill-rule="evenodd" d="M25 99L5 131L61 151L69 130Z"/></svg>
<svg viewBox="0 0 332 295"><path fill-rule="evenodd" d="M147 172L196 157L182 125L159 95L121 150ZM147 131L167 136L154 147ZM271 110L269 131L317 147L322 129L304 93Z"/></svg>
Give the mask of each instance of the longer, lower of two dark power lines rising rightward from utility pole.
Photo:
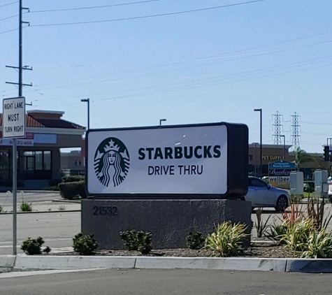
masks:
<svg viewBox="0 0 332 295"><path fill-rule="evenodd" d="M184 13L195 13L195 12L203 11L203 10L212 10L212 9L218 9L218 8L231 7L231 6L239 6L239 5L245 5L245 4L256 3L256 2L261 2L261 1L266 1L266 0L254 0L254 1L247 1L247 2L241 2L241 3L227 4L227 5L222 5L222 6L213 6L213 7L192 9L192 10L176 11L174 13L160 13L157 15L124 17L124 18L117 18L117 19L113 19L113 20L93 20L93 21L89 21L89 22L63 22L63 23L57 23L57 24L32 24L31 27L50 27L50 26L64 26L64 25L69 25L69 24L95 24L95 23L100 23L100 22L120 22L122 20L138 20L138 19L142 19L142 18L161 17L161 16L166 16L166 15L179 15L179 14L184 14Z"/></svg>

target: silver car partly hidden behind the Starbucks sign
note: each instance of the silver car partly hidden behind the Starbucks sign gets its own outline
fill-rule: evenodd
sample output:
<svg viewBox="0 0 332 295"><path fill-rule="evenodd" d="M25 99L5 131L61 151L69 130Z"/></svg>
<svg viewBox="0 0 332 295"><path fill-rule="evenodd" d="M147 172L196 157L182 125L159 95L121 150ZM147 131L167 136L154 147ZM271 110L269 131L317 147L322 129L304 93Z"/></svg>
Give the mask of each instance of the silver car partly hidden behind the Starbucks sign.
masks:
<svg viewBox="0 0 332 295"><path fill-rule="evenodd" d="M287 191L272 187L263 180L252 176L248 178L247 194L239 199L251 201L252 208L274 207L280 212L284 212L291 204L291 198Z"/></svg>

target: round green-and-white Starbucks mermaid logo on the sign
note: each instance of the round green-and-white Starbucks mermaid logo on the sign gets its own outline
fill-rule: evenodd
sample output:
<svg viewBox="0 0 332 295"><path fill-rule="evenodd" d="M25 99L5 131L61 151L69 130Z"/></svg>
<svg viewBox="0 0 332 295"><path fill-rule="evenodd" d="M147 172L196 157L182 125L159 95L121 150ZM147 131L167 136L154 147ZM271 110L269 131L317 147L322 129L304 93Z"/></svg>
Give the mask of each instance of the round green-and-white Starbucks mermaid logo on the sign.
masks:
<svg viewBox="0 0 332 295"><path fill-rule="evenodd" d="M115 137L103 140L94 154L94 172L106 187L110 185L111 180L114 187L124 181L129 171L129 163L126 145Z"/></svg>

